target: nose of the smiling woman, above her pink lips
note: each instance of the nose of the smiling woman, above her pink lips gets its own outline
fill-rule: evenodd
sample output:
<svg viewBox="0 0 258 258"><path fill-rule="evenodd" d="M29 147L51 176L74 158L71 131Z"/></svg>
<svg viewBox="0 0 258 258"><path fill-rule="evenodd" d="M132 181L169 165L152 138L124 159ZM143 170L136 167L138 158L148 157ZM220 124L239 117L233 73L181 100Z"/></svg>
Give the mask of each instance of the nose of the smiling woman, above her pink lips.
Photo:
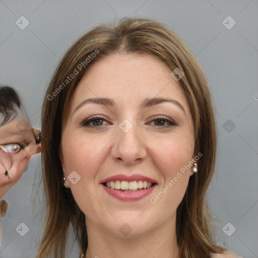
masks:
<svg viewBox="0 0 258 258"><path fill-rule="evenodd" d="M128 132L117 127L111 155L113 159L122 160L126 165L139 163L146 158L147 146L135 125Z"/></svg>

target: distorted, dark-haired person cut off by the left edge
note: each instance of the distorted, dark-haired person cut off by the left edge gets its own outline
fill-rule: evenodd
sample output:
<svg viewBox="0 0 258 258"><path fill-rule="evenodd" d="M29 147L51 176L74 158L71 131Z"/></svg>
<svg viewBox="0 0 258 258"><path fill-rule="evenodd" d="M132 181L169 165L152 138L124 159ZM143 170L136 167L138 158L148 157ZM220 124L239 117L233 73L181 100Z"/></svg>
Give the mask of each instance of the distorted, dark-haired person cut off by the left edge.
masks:
<svg viewBox="0 0 258 258"><path fill-rule="evenodd" d="M30 125L18 93L0 87L0 217L7 211L6 192L20 179L30 158L41 151L41 134ZM1 240L1 229L0 229Z"/></svg>

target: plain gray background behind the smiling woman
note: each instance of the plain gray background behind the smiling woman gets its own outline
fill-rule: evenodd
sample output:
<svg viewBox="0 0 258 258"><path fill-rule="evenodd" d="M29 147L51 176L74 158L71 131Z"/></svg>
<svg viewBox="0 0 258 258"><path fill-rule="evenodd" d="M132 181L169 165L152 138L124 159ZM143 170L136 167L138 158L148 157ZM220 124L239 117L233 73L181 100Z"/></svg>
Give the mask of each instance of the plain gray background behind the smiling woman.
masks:
<svg viewBox="0 0 258 258"><path fill-rule="evenodd" d="M257 0L0 0L0 83L19 90L33 126L39 128L51 75L63 53L86 30L134 14L168 24L195 53L211 83L219 150L208 203L218 219L218 243L243 257L258 257L257 11ZM16 25L21 16L29 21L24 30ZM222 23L228 16L236 22L231 29ZM232 20L226 23L230 26ZM1 258L35 256L44 217L40 177L36 155L5 196L9 208L2 218ZM22 222L30 229L23 237L16 231ZM227 223L228 234L236 228L231 236L222 230ZM76 256L76 248L68 251Z"/></svg>

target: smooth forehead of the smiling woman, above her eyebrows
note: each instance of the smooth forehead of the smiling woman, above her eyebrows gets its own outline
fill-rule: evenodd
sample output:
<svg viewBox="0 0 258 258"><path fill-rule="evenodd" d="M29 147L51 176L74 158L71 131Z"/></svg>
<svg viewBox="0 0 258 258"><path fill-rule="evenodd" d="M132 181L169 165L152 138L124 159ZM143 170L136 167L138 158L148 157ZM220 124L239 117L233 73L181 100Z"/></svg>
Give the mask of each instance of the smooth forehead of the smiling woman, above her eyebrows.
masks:
<svg viewBox="0 0 258 258"><path fill-rule="evenodd" d="M171 97L188 108L180 83L160 59L143 54L111 54L92 64L75 90L71 109L86 97L108 97L121 105L145 98Z"/></svg>

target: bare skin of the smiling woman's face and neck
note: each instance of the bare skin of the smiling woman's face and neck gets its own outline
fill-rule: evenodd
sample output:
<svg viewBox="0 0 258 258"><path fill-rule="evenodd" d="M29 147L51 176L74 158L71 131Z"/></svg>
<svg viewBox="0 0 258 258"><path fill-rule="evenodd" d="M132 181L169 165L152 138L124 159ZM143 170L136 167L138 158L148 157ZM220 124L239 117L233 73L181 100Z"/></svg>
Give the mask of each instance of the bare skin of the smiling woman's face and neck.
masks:
<svg viewBox="0 0 258 258"><path fill-rule="evenodd" d="M67 179L65 186L71 188L86 215L87 258L179 257L176 209L192 172L181 173L162 198L150 202L195 156L191 113L171 72L153 56L112 54L96 61L75 90L62 128L60 158L66 178L72 171L81 176L76 184ZM112 98L115 106L87 103L75 111L82 101L96 96ZM153 97L172 98L184 111L170 102L139 108L145 98ZM93 115L104 118L102 125L96 121L90 123L95 127L81 124ZM176 125L165 127L168 123L157 121L155 115ZM133 124L127 133L119 128L123 119ZM100 184L116 174L141 174L156 180L157 185L150 196L139 201L120 201ZM132 228L126 236L119 230L124 223Z"/></svg>

